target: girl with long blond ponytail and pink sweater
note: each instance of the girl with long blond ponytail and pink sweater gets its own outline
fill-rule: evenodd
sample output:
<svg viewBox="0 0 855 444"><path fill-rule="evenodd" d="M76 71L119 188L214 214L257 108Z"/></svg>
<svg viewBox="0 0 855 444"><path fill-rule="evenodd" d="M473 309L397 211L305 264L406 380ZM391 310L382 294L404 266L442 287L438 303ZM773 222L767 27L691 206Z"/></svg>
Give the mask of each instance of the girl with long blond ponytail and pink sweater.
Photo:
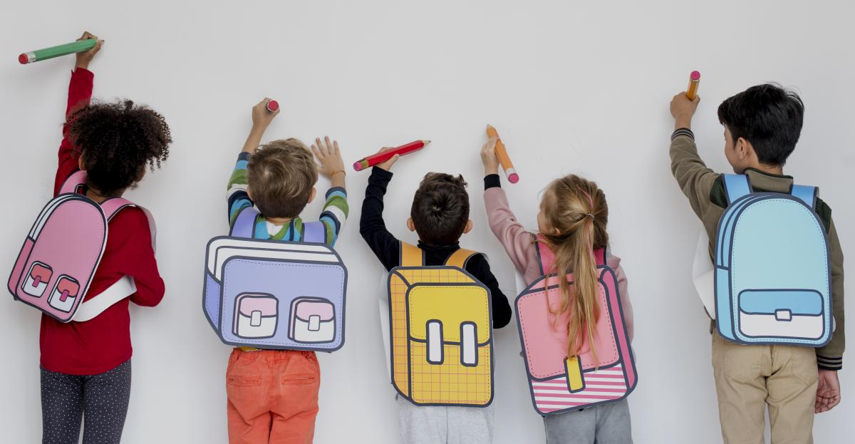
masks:
<svg viewBox="0 0 855 444"><path fill-rule="evenodd" d="M508 198L499 183L496 140L490 139L481 149L486 175L484 204L493 234L502 242L511 262L522 273L528 285L543 275L535 246L539 240L517 222L510 210ZM609 207L605 202L605 194L592 181L576 175L552 181L540 200L537 222L540 235L543 236L541 247L549 248L556 258L551 267L547 264L544 267L559 274L572 272L575 276L575 290L571 292L569 288L562 289L564 311L569 312L566 326L568 356L579 354L582 338L593 334L596 318L604 312L604 308L598 307L597 303L598 277L593 251L608 246L608 219ZM620 258L608 256L606 263L615 270L624 322L631 340L633 307L627 294L627 277ZM548 443L632 442L627 400L548 416L544 418L544 423Z"/></svg>

